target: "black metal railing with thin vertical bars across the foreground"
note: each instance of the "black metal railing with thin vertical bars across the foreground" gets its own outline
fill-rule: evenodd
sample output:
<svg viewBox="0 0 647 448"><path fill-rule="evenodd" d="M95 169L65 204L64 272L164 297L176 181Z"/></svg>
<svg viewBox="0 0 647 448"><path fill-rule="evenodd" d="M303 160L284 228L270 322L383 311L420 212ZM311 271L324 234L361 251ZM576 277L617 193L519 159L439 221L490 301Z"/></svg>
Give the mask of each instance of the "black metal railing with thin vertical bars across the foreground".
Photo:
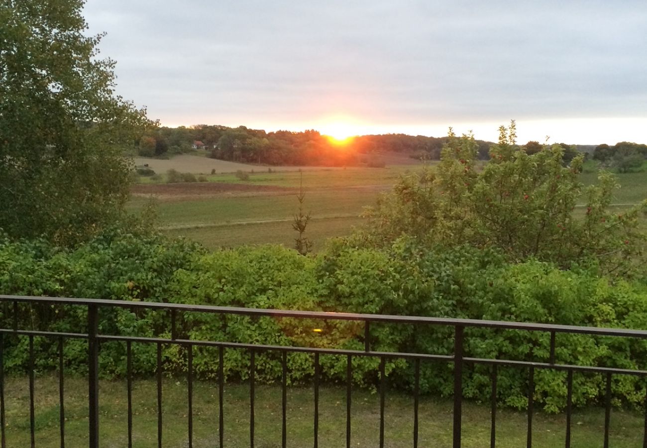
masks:
<svg viewBox="0 0 647 448"><path fill-rule="evenodd" d="M329 313L320 311L290 311L279 309L254 309L254 308L233 308L219 306L201 306L171 304L159 302L131 302L123 300L91 300L81 298L61 298L61 297L25 297L0 295L0 302L13 303L10 313L13 313L13 328L0 328L0 426L1 426L1 446L5 448L5 368L4 353L5 342L4 335L22 335L28 337L28 372L29 372L29 401L30 401L30 437L31 444L35 446L35 418L34 418L34 337L47 337L58 339L58 356L59 356L59 390L60 390L60 443L61 448L65 447L65 408L63 403L63 343L65 339L87 339L88 341L88 390L89 390L89 447L98 448L99 446L99 391L98 391L98 355L100 342L121 341L126 343L126 381L127 381L127 436L128 447L133 447L133 405L132 405L132 350L133 342L157 344L157 440L158 446L162 447L162 344L177 344L184 346L188 356L188 446L193 446L193 347L194 346L212 346L218 349L218 383L219 383L219 446L223 447L224 440L224 412L223 412L223 386L225 376L223 374L223 356L226 349L235 348L248 350L250 353L250 447L254 447L254 386L255 386L255 356L257 352L280 352L281 353L281 442L285 447L287 444L287 353L302 352L312 353L314 355L314 447L318 446L318 425L319 425L319 388L321 366L319 357L322 354L342 355L347 357L346 371L346 446L351 446L351 377L352 377L352 359L353 357L375 357L380 359L379 364L379 385L378 394L380 401L380 427L379 440L380 447L384 447L384 399L386 390L386 375L384 366L386 359L404 358L410 359L414 363L414 381L413 381L413 447L418 446L418 410L419 410L419 389L420 389L420 367L421 361L442 361L454 364L454 416L453 416L453 447L461 447L461 407L463 403L463 364L488 364L491 366L492 394L491 394L491 416L490 416L490 446L494 447L496 443L496 414L497 414L497 379L499 366L521 366L529 370L529 393L527 396L527 447L532 446L532 416L534 413L534 370L535 369L553 369L565 370L567 372L567 405L565 409L566 427L564 436L565 447L571 446L571 410L573 398L573 372L589 372L603 374L606 379L605 389L605 418L604 418L604 447L609 446L609 427L611 418L611 379L613 375L638 375L647 376L646 370L632 370L624 368L609 368L604 366L580 366L572 364L555 363L555 346L557 333L579 333L586 335L600 335L609 337L633 337L637 339L647 339L645 330L628 330L624 328L595 328L566 326L554 324L534 324L522 322L503 322L494 320L471 320L471 319L443 319L434 317L413 317L413 316L394 316L394 315L371 315L355 313ZM87 333L63 333L58 331L36 331L22 330L18 328L19 310L17 304L27 302L39 305L74 305L87 307ZM98 333L98 309L99 308L129 308L129 309L148 309L168 311L171 314L171 338L160 337L134 337L123 335L102 335ZM177 339L176 320L178 313L216 313L216 314L234 314L247 316L270 316L278 318L296 318L296 319L321 319L321 320L351 320L364 323L364 350L342 350L335 348L313 348L302 346L275 346L265 344L245 344L240 342L228 341L197 341L191 339ZM371 350L370 343L370 326L371 322L386 322L391 324L417 324L417 325L443 325L454 328L454 354L438 355L428 353L401 353L401 352L377 352ZM550 354L548 363L536 363L531 361L515 361L507 359L483 359L476 357L464 356L464 330L465 328L494 328L510 329L523 331L540 331L550 335ZM647 397L645 412L645 430L643 436L643 447L647 448Z"/></svg>

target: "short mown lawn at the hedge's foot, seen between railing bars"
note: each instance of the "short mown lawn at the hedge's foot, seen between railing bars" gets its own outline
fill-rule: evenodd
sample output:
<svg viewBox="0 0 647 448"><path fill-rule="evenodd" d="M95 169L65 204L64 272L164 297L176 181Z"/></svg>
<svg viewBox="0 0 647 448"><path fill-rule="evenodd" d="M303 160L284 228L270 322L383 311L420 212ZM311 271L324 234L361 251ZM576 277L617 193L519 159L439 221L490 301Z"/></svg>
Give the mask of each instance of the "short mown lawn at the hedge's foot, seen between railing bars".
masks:
<svg viewBox="0 0 647 448"><path fill-rule="evenodd" d="M28 381L26 377L5 380L7 446L29 445ZM186 447L187 385L183 379L164 379L162 385L162 440L165 447ZM225 385L223 436L225 446L249 446L249 388L246 384ZM196 381L193 385L193 446L218 445L217 384ZM36 446L58 447L58 379L44 375L36 379ZM288 390L287 441L290 447L313 445L313 390L292 386ZM386 446L410 447L413 433L413 399L401 392L388 391L385 405ZM66 378L66 446L87 446L87 383L82 378ZM353 390L351 444L353 447L378 446L379 398L366 390ZM100 440L102 447L127 445L127 399L123 381L100 382ZM322 386L320 390L319 446L345 446L345 388ZM137 380L133 385L133 445L157 447L156 383ZM450 447L452 402L422 397L419 408L419 445ZM497 446L525 446L525 412L499 410ZM641 447L643 416L614 410L611 413L610 445ZM255 446L281 446L281 390L278 386L257 385L255 394ZM463 447L485 447L490 440L488 405L463 403ZM584 409L573 414L573 447L601 447L604 410ZM565 416L534 414L533 446L548 448L564 444Z"/></svg>

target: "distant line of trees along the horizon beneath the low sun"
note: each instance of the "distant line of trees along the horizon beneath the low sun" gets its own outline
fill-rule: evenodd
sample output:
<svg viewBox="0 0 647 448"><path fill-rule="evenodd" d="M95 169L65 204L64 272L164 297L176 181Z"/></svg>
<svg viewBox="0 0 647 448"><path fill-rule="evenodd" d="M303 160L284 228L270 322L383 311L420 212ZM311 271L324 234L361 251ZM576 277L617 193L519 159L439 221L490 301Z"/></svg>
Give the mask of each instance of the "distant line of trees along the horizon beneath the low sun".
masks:
<svg viewBox="0 0 647 448"><path fill-rule="evenodd" d="M230 128L221 125L197 124L170 128L162 126L149 129L137 145L137 155L142 157L168 158L187 153L192 149L204 149L208 157L232 162L267 165L312 165L354 166L363 162L369 166L383 166L381 153L402 153L414 159L439 160L447 137L426 137L387 133L381 135L358 135L339 140L323 135L314 129L305 131L273 131L250 129L246 126ZM477 157L489 158L492 142L476 140ZM532 154L543 148L537 141L529 141L523 148ZM620 142L609 144L580 145L560 143L564 158L570 161L578 153L602 162L619 164L622 159L639 155L647 159L647 145ZM600 157L596 156L599 153ZM612 161L616 157L615 161ZM635 162L635 161L634 161Z"/></svg>

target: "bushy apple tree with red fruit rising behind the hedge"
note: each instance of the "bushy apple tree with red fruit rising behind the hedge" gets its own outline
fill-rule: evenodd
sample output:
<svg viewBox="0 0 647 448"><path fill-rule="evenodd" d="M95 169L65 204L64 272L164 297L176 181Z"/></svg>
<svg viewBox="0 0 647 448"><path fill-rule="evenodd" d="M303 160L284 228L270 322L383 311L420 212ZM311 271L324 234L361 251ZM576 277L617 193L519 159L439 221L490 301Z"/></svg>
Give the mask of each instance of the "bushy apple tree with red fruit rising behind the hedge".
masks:
<svg viewBox="0 0 647 448"><path fill-rule="evenodd" d="M564 166L562 145L529 155L515 143L514 122L500 131L481 172L474 137L450 132L435 170L402 177L367 212L369 225L356 243L381 247L410 235L425 245L496 247L513 262L596 263L616 276L644 273L647 238L637 224L647 202L612 212L619 185L610 174L602 172L597 185L585 189L582 155ZM574 212L580 197L586 201L582 218Z"/></svg>

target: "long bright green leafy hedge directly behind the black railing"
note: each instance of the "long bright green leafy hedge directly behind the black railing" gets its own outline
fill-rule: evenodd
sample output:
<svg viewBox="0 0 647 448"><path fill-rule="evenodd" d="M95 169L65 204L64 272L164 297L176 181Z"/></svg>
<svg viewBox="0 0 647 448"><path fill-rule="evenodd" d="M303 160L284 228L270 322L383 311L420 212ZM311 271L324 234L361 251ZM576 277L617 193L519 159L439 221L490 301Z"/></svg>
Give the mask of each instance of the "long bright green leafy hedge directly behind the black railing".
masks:
<svg viewBox="0 0 647 448"><path fill-rule="evenodd" d="M0 240L0 291L17 295L50 295L122 300L168 301L251 308L307 309L460 317L470 319L551 322L586 326L647 329L647 288L600 277L594 267L557 269L545 262L509 264L496 251L457 247L422 250L413 239L397 240L388 249L357 249L342 241L316 256L301 256L281 246L241 247L206 253L182 240L130 234L120 230L78 249L58 249L43 241ZM21 326L57 331L85 331L85 309L43 309L21 305ZM5 306L3 325L11 325ZM323 331L316 333L314 328ZM124 335L169 336L170 315L165 312L101 309L100 331ZM353 322L274 319L237 315L188 313L178 320L182 337L212 341L262 344L333 346L362 350L364 331ZM549 334L527 331L468 329L466 355L545 362ZM587 335L558 335L558 363L647 368L647 341ZM38 369L56 368L56 344L36 338ZM67 341L65 359L71 372L85 372L85 341ZM23 372L27 365L27 338L7 337L5 368ZM374 350L450 355L453 328L444 326L371 325ZM155 346L133 344L138 375L155 372ZM104 377L124 375L125 346L102 344ZM310 381L311 355L289 355L289 381ZM195 348L197 374L214 378L217 350ZM323 376L345 381L345 357L321 357ZM378 359L355 357L356 385L373 387ZM170 374L186 370L186 353L178 346L164 348L164 366ZM279 353L258 353L259 381L272 383L281 375ZM248 375L248 353L226 350L224 370L229 379ZM388 360L392 387L407 390L413 365ZM499 401L523 408L527 403L527 370L499 369ZM586 405L604 394L601 375L575 374L573 400ZM468 398L485 401L490 394L489 369L466 366L464 391ZM538 369L535 400L547 411L565 405L565 372ZM450 396L451 363L422 363L423 392ZM613 377L616 405L640 405L645 383L635 377Z"/></svg>

